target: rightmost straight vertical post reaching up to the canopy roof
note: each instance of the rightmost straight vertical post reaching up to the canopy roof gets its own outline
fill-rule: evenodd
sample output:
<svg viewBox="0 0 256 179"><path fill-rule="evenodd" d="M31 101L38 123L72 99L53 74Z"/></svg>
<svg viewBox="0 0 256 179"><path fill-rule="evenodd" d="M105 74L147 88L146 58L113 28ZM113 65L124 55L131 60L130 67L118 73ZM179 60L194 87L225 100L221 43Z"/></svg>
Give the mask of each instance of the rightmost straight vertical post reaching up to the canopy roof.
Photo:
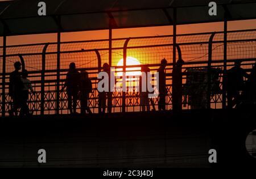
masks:
<svg viewBox="0 0 256 179"><path fill-rule="evenodd" d="M227 50L228 50L228 21L224 20L224 70L223 70L223 80L222 80L222 109L226 108L226 70L227 70Z"/></svg>

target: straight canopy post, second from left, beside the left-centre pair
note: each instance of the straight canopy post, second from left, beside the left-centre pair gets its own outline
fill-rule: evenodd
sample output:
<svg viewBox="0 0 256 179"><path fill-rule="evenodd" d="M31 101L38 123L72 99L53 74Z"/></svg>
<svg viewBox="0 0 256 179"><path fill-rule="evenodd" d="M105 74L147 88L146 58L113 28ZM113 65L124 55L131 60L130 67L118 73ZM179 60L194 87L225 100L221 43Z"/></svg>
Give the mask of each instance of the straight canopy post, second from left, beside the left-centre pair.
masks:
<svg viewBox="0 0 256 179"><path fill-rule="evenodd" d="M60 113L60 32L57 32L56 114Z"/></svg>

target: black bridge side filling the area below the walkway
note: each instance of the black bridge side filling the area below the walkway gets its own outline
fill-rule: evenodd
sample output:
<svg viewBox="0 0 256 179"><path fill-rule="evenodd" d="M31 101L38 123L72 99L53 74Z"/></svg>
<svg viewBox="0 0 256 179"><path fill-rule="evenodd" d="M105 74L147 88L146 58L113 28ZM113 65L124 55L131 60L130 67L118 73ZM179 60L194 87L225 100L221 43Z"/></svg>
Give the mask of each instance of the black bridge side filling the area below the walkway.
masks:
<svg viewBox="0 0 256 179"><path fill-rule="evenodd" d="M253 166L245 140L255 121L254 110L1 118L0 167Z"/></svg>

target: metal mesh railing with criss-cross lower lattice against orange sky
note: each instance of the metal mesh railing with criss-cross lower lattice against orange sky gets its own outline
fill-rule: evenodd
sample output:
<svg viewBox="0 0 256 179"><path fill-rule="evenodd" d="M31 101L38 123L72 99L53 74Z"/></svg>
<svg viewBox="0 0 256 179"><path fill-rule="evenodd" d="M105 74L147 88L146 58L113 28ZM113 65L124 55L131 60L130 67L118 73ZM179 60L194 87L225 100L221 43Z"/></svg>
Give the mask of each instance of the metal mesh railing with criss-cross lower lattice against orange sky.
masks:
<svg viewBox="0 0 256 179"><path fill-rule="evenodd" d="M218 82L220 91L212 92L210 86L211 80L201 82L199 86L205 87L203 92L207 97L205 103L201 106L207 108L222 109L225 108L222 96L226 93L222 82L224 81L226 71L233 66L234 61L241 60L242 67L251 72L255 63L256 56L256 30L247 31L229 31L226 41L228 58L224 63L224 33L195 33L189 35L176 36L177 59L184 59L183 65L183 88L188 83L188 71L191 69L205 71L205 79L211 79L210 69L220 69ZM10 110L11 98L9 96L9 78L13 71L13 63L21 61L23 69L29 71L29 79L32 81L35 95L30 93L28 105L35 115L39 114L67 114L67 93L60 92L63 86L67 67L70 62L76 62L77 70L86 70L93 83L93 91L89 96L89 107L93 113L98 113L98 91L97 74L100 72L103 63L109 62L109 40L61 42L58 48L57 43L15 45L1 47L3 52L1 56L1 81L0 81L0 110L2 116L8 116ZM112 63L111 66L117 69L127 70L127 67L148 66L152 72L159 69L160 60L166 58L168 61L166 67L166 108L172 109L173 85L172 62L173 36L154 36L154 37L134 37L129 39L112 40ZM138 59L140 65L129 64L130 57ZM59 62L57 62L59 59ZM125 66L118 65L123 59ZM126 63L127 62L127 63ZM131 65L131 66L129 66ZM139 71L139 70L138 70ZM136 112L141 111L139 92L134 86L130 86L130 92L115 91L112 97L113 112ZM183 92L183 109L194 109L189 103L189 95ZM158 97L152 99L154 105L158 105ZM200 106L197 106L199 108ZM80 109L80 102L77 104ZM152 104L151 104L152 109Z"/></svg>

